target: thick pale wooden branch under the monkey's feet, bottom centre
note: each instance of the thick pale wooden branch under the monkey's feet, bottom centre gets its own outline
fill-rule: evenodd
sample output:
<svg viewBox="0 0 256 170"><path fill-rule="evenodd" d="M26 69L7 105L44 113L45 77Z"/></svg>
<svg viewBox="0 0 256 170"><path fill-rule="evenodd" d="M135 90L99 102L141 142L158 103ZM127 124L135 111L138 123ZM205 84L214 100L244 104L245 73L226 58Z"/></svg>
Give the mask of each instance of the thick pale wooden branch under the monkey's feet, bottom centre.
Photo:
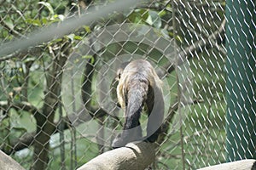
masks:
<svg viewBox="0 0 256 170"><path fill-rule="evenodd" d="M156 144L130 143L110 150L85 163L78 170L131 170L145 169L154 161Z"/></svg>

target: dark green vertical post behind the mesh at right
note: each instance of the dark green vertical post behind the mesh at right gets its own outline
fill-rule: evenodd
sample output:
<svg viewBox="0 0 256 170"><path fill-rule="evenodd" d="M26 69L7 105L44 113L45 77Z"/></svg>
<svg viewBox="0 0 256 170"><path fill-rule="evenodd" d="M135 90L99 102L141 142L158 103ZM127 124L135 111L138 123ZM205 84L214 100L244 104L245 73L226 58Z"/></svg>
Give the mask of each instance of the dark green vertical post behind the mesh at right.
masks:
<svg viewBox="0 0 256 170"><path fill-rule="evenodd" d="M226 161L256 159L255 4L227 0L225 14Z"/></svg>

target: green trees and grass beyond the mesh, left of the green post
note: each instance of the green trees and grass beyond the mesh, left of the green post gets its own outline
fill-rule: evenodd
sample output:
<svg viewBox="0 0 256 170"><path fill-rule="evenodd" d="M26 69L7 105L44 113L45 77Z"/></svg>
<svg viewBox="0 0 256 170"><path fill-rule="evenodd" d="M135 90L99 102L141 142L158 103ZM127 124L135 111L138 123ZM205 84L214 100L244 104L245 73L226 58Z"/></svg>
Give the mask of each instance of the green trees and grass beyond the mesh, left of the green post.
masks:
<svg viewBox="0 0 256 170"><path fill-rule="evenodd" d="M2 43L20 37L29 37L33 31L61 23L73 15L87 12L88 8L108 3L97 0L75 2L78 3L67 0L2 1L0 3ZM41 42L40 45L30 47L26 51L0 56L3 57L0 58L0 149L26 169L31 167L75 169L99 155L102 150L110 150L108 146L102 147L96 144L96 139L94 141L91 139L101 130L100 124L105 127L105 136L100 137L109 142L113 137L111 130L121 129L121 123L113 116L101 116L90 121L86 120L86 116L89 116L88 112L100 115L113 105L116 97L113 94L115 87L112 86L117 68L115 62L119 61L119 56L128 55L131 57L128 60L137 57L148 59L157 71L164 72L164 94L168 101L166 116L169 107L181 98L179 94L181 89L177 88L177 77L180 78L180 83L191 82L192 88L188 94L191 99L175 111L176 116L169 124L170 130L166 134L166 140L157 150L154 169L183 169L183 163L184 168L195 169L224 161L226 107L224 54L218 49L224 42L217 37L219 47L209 47L206 42L199 48L196 46L193 48L193 44L199 42L201 37L208 39L218 30L224 19L224 2L189 5L197 8L191 9L187 6L183 8L182 4L173 4L168 0L153 1L150 5L141 4L135 9L120 14L114 13L108 19L97 20L89 26L74 29L64 37L53 37L52 41ZM200 11L197 10L198 8ZM196 23L189 18L190 10L193 10L192 14L195 16L202 14L205 18ZM176 20L172 20L174 16ZM201 28L196 27L193 30L191 22ZM108 40L108 37L100 39L96 37L99 35L93 34L104 26L123 23L153 28L153 36L160 38L160 41L154 42L153 47L143 41L108 43L103 42ZM176 24L173 25L174 23ZM144 36L145 39L150 40L152 35L148 36L143 26L139 27L137 37ZM132 26L125 31L133 31ZM102 42L96 42L96 38ZM208 39L208 42L210 41L215 40ZM87 46L81 45L82 42ZM164 46L163 49L158 48L160 45L166 45L167 42L173 46L172 51L166 52L165 50L170 49ZM189 51L186 51L188 48ZM94 54L89 53L89 50ZM185 57L189 59L187 68L190 71L172 70L170 60L177 59L176 57L179 56L177 54L181 55L183 51L187 53ZM171 56L166 56L166 53ZM77 65L81 66L74 68ZM103 65L108 65L107 71L112 75L100 74ZM90 67L93 69L90 70ZM71 76L67 71L75 72ZM88 72L85 74L86 71ZM107 80L107 85L104 84L103 77ZM181 77L189 77L189 79L182 82ZM106 94L101 91L103 88L107 89ZM68 90L73 94L67 94ZM84 96L80 96L81 91L85 91ZM184 94L186 93L188 92L185 91ZM102 99L109 106L106 109L103 108L103 106L107 107L106 105L99 105L101 103L99 100L102 98L101 95L107 94L109 98ZM66 99L63 99L63 96ZM84 100L88 101L88 103L84 102L87 111L83 110ZM79 111L83 117L79 115ZM109 113L114 116L123 115L121 111L115 110ZM178 114L183 115L181 127L178 126ZM71 120L71 117L74 120ZM122 118L120 120L123 121ZM145 116L143 121L146 121Z"/></svg>

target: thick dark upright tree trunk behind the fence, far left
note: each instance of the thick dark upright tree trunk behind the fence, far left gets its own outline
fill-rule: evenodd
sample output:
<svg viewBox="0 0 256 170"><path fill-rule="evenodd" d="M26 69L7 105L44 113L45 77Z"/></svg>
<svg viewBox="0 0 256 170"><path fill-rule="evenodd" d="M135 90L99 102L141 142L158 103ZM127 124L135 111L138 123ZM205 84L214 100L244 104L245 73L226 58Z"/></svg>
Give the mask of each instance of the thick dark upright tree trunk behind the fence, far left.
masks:
<svg viewBox="0 0 256 170"><path fill-rule="evenodd" d="M32 169L44 170L49 162L49 139L55 130L55 110L61 94L61 78L63 66L70 54L70 43L60 42L60 48L55 51L52 67L46 77L47 87L44 93L44 105L40 112L35 114L37 121L37 134L34 139L34 154Z"/></svg>

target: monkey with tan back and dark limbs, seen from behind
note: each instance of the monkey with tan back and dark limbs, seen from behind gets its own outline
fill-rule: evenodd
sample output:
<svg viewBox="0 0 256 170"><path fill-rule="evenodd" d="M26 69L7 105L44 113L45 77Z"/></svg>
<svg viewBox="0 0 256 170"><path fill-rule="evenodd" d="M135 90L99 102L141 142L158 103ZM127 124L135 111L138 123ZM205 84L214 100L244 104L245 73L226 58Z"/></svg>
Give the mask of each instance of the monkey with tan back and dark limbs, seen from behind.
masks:
<svg viewBox="0 0 256 170"><path fill-rule="evenodd" d="M125 123L123 132L113 139L113 148L140 140L154 143L161 133L164 117L163 82L145 59L121 65L117 77L116 93L119 106L125 112ZM148 115L147 136L144 138L139 121L143 109Z"/></svg>

